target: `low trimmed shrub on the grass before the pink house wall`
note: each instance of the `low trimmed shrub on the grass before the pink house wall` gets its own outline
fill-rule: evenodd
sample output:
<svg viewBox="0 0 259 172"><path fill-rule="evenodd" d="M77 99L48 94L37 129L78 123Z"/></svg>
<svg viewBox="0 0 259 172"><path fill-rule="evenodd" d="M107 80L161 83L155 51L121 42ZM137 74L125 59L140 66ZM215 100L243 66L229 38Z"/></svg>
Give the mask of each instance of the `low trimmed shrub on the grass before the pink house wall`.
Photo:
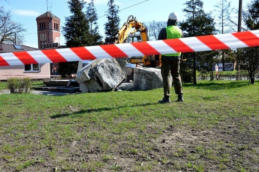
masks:
<svg viewBox="0 0 259 172"><path fill-rule="evenodd" d="M10 93L29 93L32 86L32 80L26 78L8 78L7 87Z"/></svg>

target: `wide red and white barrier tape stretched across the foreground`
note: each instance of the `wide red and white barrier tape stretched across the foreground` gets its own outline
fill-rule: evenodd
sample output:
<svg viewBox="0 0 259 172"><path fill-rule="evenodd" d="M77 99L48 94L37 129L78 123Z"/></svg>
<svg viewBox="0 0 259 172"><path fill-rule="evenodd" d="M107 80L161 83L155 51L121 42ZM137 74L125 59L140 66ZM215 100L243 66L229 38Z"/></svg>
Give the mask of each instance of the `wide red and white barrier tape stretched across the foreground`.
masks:
<svg viewBox="0 0 259 172"><path fill-rule="evenodd" d="M0 66L119 58L259 46L259 30L127 44L0 53Z"/></svg>

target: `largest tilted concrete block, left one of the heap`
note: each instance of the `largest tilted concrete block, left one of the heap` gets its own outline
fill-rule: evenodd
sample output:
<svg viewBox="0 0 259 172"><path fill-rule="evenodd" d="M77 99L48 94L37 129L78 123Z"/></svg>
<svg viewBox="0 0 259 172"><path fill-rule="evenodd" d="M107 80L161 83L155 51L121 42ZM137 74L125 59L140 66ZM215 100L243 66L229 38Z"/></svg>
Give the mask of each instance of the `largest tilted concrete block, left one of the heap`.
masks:
<svg viewBox="0 0 259 172"><path fill-rule="evenodd" d="M77 72L76 80L82 92L112 91L123 82L124 73L114 58L96 59Z"/></svg>

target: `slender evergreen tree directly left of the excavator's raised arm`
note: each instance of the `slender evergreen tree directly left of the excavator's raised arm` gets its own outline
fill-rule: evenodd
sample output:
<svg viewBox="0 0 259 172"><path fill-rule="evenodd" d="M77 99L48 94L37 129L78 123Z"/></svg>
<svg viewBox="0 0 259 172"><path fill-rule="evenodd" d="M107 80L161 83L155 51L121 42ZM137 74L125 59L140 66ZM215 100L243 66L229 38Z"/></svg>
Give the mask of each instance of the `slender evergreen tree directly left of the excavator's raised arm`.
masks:
<svg viewBox="0 0 259 172"><path fill-rule="evenodd" d="M104 24L105 35L109 42L116 37L119 31L120 19L118 16L119 6L114 4L114 0L109 0L108 11L106 11L108 22Z"/></svg>

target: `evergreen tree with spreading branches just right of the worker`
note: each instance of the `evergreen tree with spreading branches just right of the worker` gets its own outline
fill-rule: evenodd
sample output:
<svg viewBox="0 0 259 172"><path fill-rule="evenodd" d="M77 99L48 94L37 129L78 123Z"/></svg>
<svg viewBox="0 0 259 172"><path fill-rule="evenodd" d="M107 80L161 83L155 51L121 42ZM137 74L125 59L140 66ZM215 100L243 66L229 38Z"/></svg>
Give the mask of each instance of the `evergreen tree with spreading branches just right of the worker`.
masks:
<svg viewBox="0 0 259 172"><path fill-rule="evenodd" d="M185 3L187 7L183 9L186 13L186 21L180 22L180 28L184 31L185 37L196 37L202 35L215 34L215 22L214 19L203 11L203 2L201 0L190 0ZM188 60L184 63L192 61L192 73L193 73L193 84L196 82L196 52L184 54ZM191 66L191 64L185 64L185 66ZM185 68L182 68L183 72Z"/></svg>

